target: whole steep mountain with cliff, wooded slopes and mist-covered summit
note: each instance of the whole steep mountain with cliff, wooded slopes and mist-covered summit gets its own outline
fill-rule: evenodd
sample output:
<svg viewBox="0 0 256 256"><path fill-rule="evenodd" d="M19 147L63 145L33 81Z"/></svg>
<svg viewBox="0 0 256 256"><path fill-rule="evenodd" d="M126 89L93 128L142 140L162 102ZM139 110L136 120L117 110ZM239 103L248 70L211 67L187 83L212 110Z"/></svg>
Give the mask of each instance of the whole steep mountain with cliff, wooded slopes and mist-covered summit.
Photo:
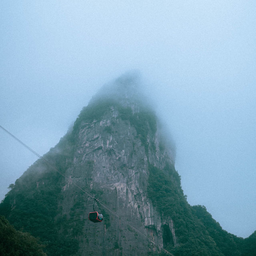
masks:
<svg viewBox="0 0 256 256"><path fill-rule="evenodd" d="M38 159L16 180L0 214L48 256L255 255L255 235L229 234L188 204L174 145L146 102L134 75L103 86L44 155L50 165ZM88 220L94 211L102 222Z"/></svg>

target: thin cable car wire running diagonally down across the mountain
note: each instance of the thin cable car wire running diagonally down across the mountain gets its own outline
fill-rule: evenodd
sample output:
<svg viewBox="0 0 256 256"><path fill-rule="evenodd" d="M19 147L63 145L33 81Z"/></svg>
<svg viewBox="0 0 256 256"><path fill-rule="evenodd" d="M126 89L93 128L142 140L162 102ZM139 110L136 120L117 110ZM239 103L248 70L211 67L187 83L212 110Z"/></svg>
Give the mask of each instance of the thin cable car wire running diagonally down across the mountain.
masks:
<svg viewBox="0 0 256 256"><path fill-rule="evenodd" d="M40 154L38 154L36 151L32 150L32 148L30 148L29 146L27 146L24 142L22 142L21 140L19 140L16 136L14 136L11 132L9 132L8 130L6 130L3 126L0 125L0 128L2 128L2 130L4 130L6 133L8 133L12 138L14 138L15 140L17 140L20 144L22 144L22 146L24 146L25 148L27 148L28 150L30 150L32 153L34 153L36 156L38 156L39 158L41 158L42 160L44 160L44 162L46 162L46 164L48 164L48 166L50 166L51 168L53 168L56 172L58 172L61 176L63 176L64 178L69 178L68 176L66 176L63 172L61 172L60 170L58 170L55 166L53 166L52 164L50 164L44 157L40 156ZM165 254L170 255L170 256L174 256L172 253L168 252L167 250L165 250L164 248L162 248L158 243L156 243L154 240L152 240L149 236L147 236L146 234L144 234L143 232L141 232L140 230L138 230L136 227L134 227L132 224L130 224L130 222L124 220L123 218L121 218L116 212L114 212L112 209L110 209L108 206L106 206L106 204L100 202L100 200L98 200L95 196L92 196L90 193L88 193L86 190L84 190L84 188L82 188L81 186L79 186L76 182L72 182L72 184L74 184L77 188L79 188L80 190L82 190L87 196L93 198L96 202L98 202L100 205L102 205L105 209L107 209L109 212L111 212L114 216L116 216L117 218L119 218L119 220L122 220L122 222L124 222L125 224L127 224L128 226L130 226L131 228L133 228L137 233L139 233L141 236L144 236L144 238L150 240L151 244L154 244L156 247L159 248L159 250L164 251Z"/></svg>

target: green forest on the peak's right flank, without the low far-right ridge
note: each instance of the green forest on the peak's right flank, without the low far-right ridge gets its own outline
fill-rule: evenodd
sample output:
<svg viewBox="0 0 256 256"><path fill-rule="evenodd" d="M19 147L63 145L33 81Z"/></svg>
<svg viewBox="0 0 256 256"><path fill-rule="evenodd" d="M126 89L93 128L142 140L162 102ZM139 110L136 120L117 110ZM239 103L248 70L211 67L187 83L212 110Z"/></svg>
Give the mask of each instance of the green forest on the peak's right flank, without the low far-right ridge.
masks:
<svg viewBox="0 0 256 256"><path fill-rule="evenodd" d="M167 240L163 237L166 249L176 256L222 256L202 222L192 214L183 191L177 186L177 182L180 182L178 173L173 166L167 165L165 169L163 171L149 165L148 196L162 216L168 222L173 220L175 224L177 244L174 246L172 234L169 232Z"/></svg>

